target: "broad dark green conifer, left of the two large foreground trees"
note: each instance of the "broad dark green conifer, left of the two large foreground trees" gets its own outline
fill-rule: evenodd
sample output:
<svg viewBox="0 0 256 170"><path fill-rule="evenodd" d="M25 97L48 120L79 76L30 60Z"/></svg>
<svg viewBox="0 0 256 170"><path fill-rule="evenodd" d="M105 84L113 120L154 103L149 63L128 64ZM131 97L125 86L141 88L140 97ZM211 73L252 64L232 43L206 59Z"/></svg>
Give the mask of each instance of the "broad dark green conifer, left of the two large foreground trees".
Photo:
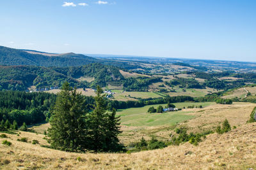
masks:
<svg viewBox="0 0 256 170"><path fill-rule="evenodd" d="M60 150L84 152L88 141L84 97L67 82L57 97L48 129L51 146Z"/></svg>

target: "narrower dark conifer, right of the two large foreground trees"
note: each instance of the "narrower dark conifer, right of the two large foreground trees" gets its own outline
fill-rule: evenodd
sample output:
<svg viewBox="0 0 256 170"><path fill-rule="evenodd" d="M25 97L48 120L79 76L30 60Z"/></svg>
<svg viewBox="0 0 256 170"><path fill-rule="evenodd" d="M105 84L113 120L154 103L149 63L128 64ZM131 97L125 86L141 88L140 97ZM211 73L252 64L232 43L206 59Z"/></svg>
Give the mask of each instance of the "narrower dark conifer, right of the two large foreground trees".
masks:
<svg viewBox="0 0 256 170"><path fill-rule="evenodd" d="M106 101L104 100L105 94L102 95L102 89L97 87L97 96L95 96L95 109L90 115L90 136L93 145L90 148L95 152L116 152L122 150L123 147L117 138L120 134L120 118L115 117L116 110L113 109L112 113L108 113Z"/></svg>

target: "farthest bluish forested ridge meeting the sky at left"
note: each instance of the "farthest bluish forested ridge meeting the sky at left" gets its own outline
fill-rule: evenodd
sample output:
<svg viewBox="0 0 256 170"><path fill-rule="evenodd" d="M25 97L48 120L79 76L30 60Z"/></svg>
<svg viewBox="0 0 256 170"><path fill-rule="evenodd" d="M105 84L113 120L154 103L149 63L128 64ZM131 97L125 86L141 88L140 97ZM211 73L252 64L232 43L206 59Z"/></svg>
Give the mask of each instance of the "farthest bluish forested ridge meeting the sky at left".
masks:
<svg viewBox="0 0 256 170"><path fill-rule="evenodd" d="M82 54L65 53L65 54L49 54L49 53L33 53L35 51L17 50L0 46L0 65L4 66L83 66L93 62L101 62L100 59L88 57Z"/></svg>

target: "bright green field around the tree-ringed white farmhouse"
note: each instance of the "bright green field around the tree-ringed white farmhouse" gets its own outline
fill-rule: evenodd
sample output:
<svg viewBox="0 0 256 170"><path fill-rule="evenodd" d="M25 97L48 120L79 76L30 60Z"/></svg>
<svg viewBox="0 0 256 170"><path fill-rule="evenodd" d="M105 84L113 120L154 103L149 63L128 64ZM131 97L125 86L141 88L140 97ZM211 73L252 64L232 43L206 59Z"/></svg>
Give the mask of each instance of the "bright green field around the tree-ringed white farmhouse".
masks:
<svg viewBox="0 0 256 170"><path fill-rule="evenodd" d="M209 106L214 103L174 103L177 108L188 106ZM155 104L144 106L142 108L129 108L126 110L118 110L117 115L120 115L122 125L127 126L157 126L157 125L175 125L185 120L193 118L188 115L189 111L173 111L165 113L147 113L148 108L166 104Z"/></svg>

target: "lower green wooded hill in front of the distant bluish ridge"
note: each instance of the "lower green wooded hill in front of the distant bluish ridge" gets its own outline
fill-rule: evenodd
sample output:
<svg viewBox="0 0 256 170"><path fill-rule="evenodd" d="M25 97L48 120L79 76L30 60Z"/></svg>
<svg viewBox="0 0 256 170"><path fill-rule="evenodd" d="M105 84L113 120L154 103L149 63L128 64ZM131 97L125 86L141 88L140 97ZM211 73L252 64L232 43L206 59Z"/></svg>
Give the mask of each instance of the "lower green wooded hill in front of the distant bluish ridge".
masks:
<svg viewBox="0 0 256 170"><path fill-rule="evenodd" d="M79 81L91 77L92 82ZM99 63L77 67L0 66L0 91L27 90L32 85L37 89L61 87L68 81L72 87L106 86L108 82L124 80L119 69Z"/></svg>

